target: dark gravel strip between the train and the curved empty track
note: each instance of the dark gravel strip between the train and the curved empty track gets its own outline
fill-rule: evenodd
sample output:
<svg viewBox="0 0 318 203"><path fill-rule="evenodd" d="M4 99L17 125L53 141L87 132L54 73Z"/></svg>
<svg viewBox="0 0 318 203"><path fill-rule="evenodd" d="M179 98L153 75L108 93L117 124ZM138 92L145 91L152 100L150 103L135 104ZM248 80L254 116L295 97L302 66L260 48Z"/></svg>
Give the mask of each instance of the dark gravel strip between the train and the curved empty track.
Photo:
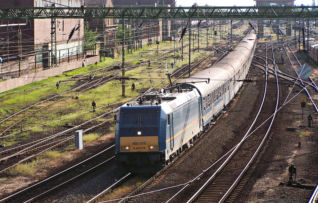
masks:
<svg viewBox="0 0 318 203"><path fill-rule="evenodd" d="M232 148L238 133L246 128L246 123L251 120L250 114L253 109L257 108L257 101L260 101L258 98L259 93L262 93L262 91L258 90L255 85L246 84L242 89L242 93L236 98L235 104L232 105L233 109L228 110L217 121L217 129L211 136L151 190L183 184L192 180L214 163L224 152ZM246 108L246 106L253 108ZM199 180L191 183L171 202L182 202L184 198L197 189L198 182ZM166 202L182 187L142 195L137 202Z"/></svg>

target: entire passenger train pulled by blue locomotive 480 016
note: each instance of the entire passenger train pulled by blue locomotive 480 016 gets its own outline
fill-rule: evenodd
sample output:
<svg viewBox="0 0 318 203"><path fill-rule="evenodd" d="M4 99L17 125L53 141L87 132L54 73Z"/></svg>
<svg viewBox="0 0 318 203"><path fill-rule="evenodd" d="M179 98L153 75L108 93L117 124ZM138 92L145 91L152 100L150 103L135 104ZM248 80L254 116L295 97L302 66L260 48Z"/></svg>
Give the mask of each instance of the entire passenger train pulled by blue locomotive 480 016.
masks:
<svg viewBox="0 0 318 203"><path fill-rule="evenodd" d="M190 147L230 104L252 62L248 34L222 60L175 86L141 95L116 116L115 157L131 172L156 172Z"/></svg>

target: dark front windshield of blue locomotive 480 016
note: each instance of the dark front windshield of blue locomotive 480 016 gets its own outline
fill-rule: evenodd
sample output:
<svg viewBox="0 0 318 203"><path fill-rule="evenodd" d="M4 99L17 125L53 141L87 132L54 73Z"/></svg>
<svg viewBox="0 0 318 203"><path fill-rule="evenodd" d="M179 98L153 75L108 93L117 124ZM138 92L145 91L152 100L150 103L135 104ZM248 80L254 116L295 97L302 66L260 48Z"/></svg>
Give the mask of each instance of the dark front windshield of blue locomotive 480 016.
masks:
<svg viewBox="0 0 318 203"><path fill-rule="evenodd" d="M158 113L121 114L121 128L158 128Z"/></svg>

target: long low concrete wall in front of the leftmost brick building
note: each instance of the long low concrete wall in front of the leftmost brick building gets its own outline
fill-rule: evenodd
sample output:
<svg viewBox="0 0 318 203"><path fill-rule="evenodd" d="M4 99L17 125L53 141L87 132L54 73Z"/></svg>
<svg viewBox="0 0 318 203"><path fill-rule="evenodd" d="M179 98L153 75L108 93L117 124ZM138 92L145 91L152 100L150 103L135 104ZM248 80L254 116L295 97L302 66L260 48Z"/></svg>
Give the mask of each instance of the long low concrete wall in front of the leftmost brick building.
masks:
<svg viewBox="0 0 318 203"><path fill-rule="evenodd" d="M85 61L86 65L93 64L95 62L100 61L99 56L93 56L90 58L86 58L84 60L73 60L69 63L61 64L59 67L42 70L37 73L32 73L28 75L23 75L20 78L12 78L7 79L5 81L0 82L0 93L8 91L13 88L17 88L23 85L30 84L32 82L37 82L44 80L48 77L56 76L62 74L65 71L77 69L83 66L83 61Z"/></svg>

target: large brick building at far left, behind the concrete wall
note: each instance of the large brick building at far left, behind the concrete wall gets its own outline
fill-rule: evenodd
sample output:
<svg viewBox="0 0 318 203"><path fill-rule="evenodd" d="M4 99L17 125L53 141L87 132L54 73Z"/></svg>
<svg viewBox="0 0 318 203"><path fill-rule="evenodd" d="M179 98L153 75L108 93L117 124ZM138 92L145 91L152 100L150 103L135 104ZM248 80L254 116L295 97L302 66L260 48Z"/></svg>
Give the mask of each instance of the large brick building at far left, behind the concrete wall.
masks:
<svg viewBox="0 0 318 203"><path fill-rule="evenodd" d="M83 2L82 0L0 0L0 5L2 7L80 7ZM83 23L84 19L2 20L0 57L5 63L28 60L29 67L28 70L24 70L25 72L82 60L85 58ZM78 29L68 41L73 28Z"/></svg>

